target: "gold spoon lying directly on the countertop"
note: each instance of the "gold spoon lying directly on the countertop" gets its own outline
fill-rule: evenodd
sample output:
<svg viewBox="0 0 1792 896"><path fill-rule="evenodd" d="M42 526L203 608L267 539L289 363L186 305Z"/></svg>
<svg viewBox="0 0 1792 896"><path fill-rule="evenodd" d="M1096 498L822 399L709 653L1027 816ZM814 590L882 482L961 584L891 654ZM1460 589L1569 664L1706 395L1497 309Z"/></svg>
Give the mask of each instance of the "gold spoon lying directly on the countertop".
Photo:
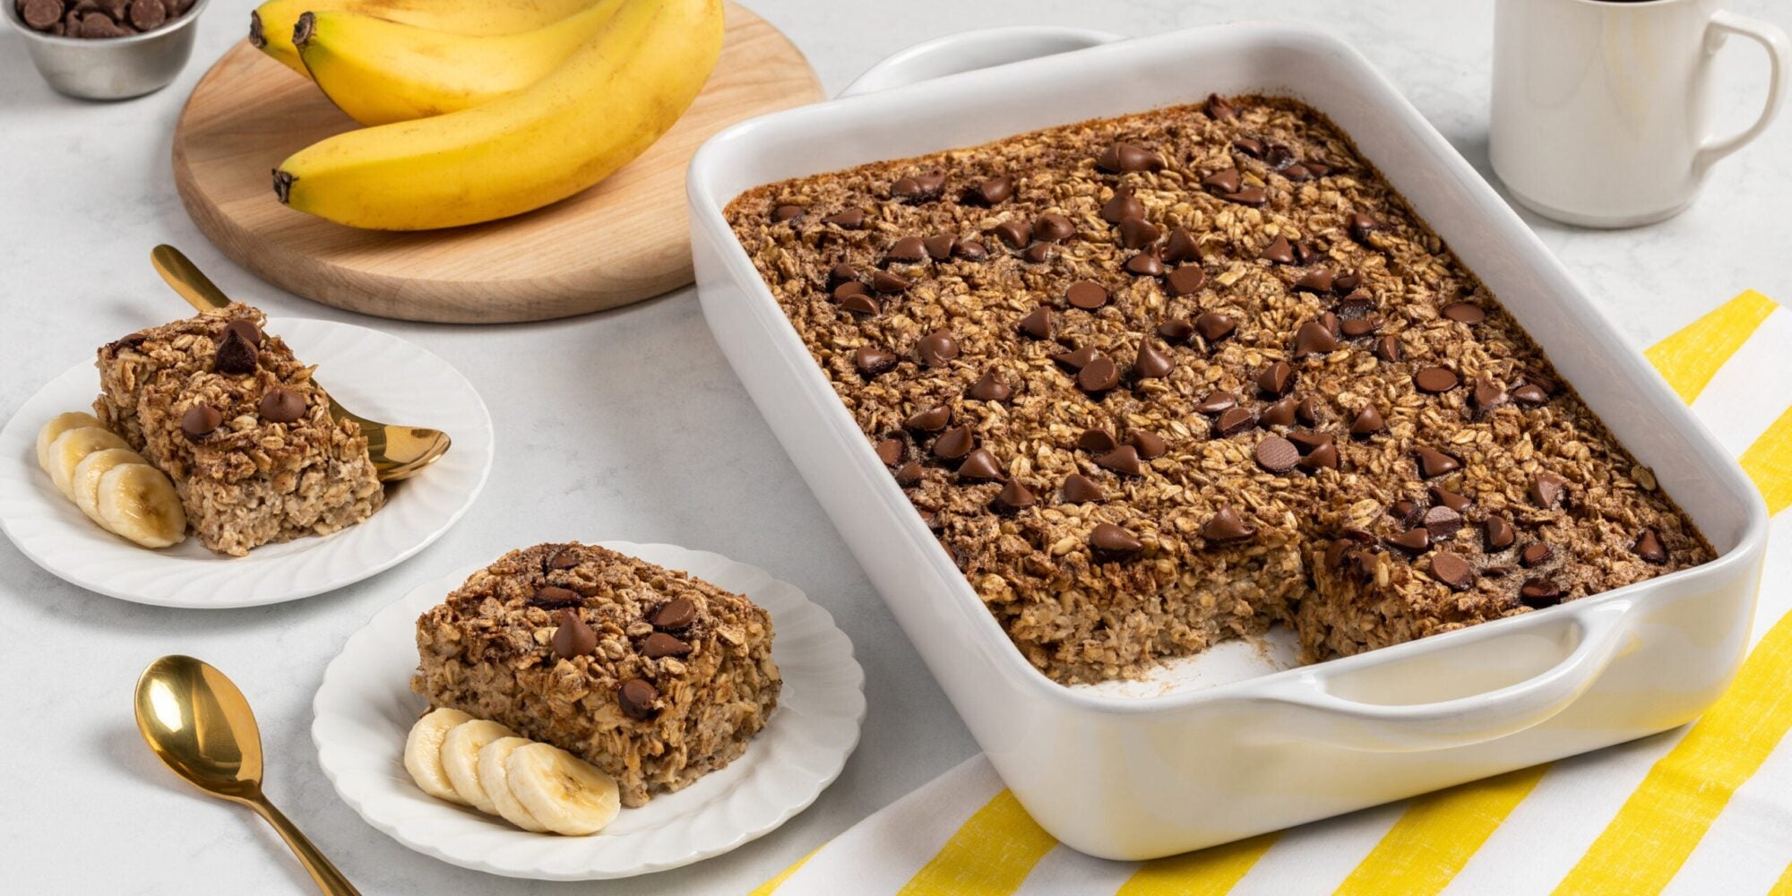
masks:
<svg viewBox="0 0 1792 896"><path fill-rule="evenodd" d="M163 656L136 679L136 729L163 765L194 787L242 803L274 826L328 896L360 896L299 828L262 796L262 731L224 672L190 656Z"/></svg>

